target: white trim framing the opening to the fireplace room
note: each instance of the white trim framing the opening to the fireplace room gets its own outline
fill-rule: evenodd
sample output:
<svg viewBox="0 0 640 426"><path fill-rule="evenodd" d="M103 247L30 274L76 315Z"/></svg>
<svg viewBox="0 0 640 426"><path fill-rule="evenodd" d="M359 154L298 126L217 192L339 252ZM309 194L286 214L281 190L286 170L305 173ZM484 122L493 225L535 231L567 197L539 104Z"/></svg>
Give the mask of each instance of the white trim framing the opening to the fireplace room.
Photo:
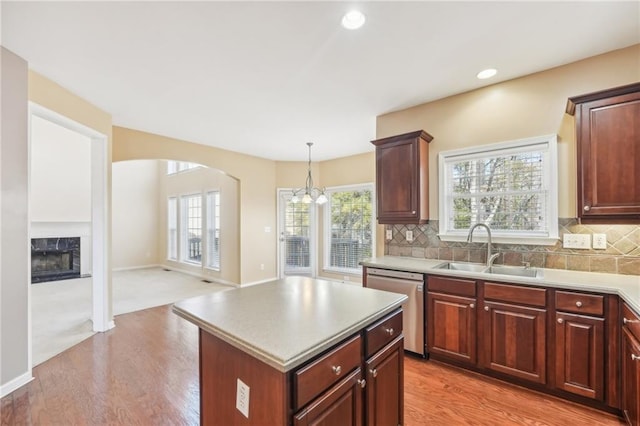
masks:
<svg viewBox="0 0 640 426"><path fill-rule="evenodd" d="M31 176L31 117L37 116L58 124L91 139L91 241L92 241L92 322L93 331L107 331L115 326L111 310L110 256L109 256L109 214L108 214L108 163L106 135L45 108L29 102L29 176ZM31 186L29 184L29 196ZM31 224L31 213L29 213ZM31 239L31 225L29 235ZM28 291L29 303L29 364L32 362L31 345L31 287Z"/></svg>

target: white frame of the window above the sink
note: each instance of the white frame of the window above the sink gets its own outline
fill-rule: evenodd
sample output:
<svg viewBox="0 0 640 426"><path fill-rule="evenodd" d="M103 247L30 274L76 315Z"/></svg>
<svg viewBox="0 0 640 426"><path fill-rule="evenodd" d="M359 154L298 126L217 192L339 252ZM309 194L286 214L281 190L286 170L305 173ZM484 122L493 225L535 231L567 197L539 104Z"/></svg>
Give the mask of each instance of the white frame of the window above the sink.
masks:
<svg viewBox="0 0 640 426"><path fill-rule="evenodd" d="M453 199L449 193L448 166L457 162L498 157L505 154L518 152L541 152L543 158L542 185L546 196L546 223L547 230L543 231L511 231L505 233L499 229L492 229L492 242L517 243L531 245L554 245L558 237L558 148L555 134L536 136L532 138L517 139L512 141L474 146L471 148L442 151L438 154L439 177L439 234L443 241L466 241L468 229L454 230L450 224L449 213L452 209ZM484 230L478 230L478 236L486 235ZM479 240L481 240L480 238Z"/></svg>

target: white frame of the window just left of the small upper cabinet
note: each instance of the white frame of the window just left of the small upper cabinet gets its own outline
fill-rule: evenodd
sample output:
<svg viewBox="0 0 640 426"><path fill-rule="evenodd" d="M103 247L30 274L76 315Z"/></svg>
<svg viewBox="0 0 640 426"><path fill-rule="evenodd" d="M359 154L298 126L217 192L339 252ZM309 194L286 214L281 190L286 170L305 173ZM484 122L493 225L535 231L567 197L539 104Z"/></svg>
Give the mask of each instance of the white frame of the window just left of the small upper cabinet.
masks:
<svg viewBox="0 0 640 426"><path fill-rule="evenodd" d="M371 192L371 256L376 251L376 191L373 183L363 183L354 185L342 185L325 188L325 194L329 201L323 206L323 271L338 274L362 275L362 268L344 268L331 266L331 195L337 192L355 192L369 191Z"/></svg>

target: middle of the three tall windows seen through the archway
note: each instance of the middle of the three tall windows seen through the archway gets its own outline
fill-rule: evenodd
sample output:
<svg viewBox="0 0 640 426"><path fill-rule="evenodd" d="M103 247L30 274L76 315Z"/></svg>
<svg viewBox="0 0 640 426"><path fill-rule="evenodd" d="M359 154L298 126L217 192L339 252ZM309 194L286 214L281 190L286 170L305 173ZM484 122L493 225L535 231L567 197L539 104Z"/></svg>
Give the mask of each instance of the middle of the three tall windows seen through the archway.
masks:
<svg viewBox="0 0 640 426"><path fill-rule="evenodd" d="M202 196L187 195L180 197L182 228L181 260L201 264L202 262Z"/></svg>

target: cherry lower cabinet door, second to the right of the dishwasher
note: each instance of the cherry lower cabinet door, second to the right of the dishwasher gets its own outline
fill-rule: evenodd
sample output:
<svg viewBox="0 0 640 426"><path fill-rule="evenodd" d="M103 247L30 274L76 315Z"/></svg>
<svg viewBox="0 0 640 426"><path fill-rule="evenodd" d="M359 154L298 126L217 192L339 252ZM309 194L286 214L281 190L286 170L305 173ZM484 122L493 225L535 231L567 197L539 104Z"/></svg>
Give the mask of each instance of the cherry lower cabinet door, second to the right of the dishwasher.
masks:
<svg viewBox="0 0 640 426"><path fill-rule="evenodd" d="M486 303L485 368L546 383L546 310Z"/></svg>

